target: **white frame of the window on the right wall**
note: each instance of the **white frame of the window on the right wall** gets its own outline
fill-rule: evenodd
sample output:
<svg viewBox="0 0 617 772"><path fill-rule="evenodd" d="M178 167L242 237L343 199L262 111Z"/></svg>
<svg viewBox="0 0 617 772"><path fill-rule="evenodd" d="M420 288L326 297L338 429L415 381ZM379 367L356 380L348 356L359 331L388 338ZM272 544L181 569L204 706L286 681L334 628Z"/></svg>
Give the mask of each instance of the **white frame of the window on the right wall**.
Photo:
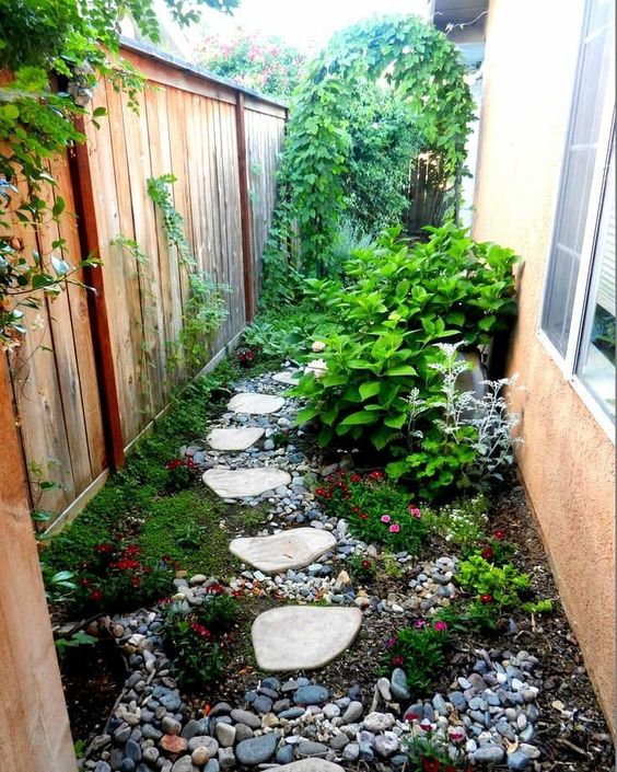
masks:
<svg viewBox="0 0 617 772"><path fill-rule="evenodd" d="M572 88L572 93L574 93L574 88L578 88L579 85L577 82L578 77L579 66L577 66L574 72L574 84ZM598 403L597 396L590 391L590 389L585 385L584 381L582 381L581 378L578 376L577 367L579 365L579 354L582 345L587 301L590 299L589 290L592 286L593 280L592 274L594 268L594 252L598 240L598 230L601 227L599 216L602 211L603 196L607 182L607 174L609 171L610 147L615 134L615 92L610 88L610 84L614 82L615 60L612 59L607 80L607 83L609 85L602 108L601 128L597 138L597 155L595 159L594 172L590 189L587 217L585 221L583 245L581 249L581 262L579 265L579 274L577 277L577 289L574 295L574 303L572 307L572 318L570 322L570 333L568 337L568 349L566 352L566 356L563 356L557 349L557 347L552 344L552 342L542 327L545 306L548 302L549 295L549 266L555 253L555 237L558 217L557 206L559 198L556 201L556 211L552 220L551 231L552 235L550 240L547 260L545 263L547 266L547 272L545 276L543 300L538 315L537 329L537 336L542 345L544 346L550 358L556 362L563 378L570 383L577 394L581 397L582 402L593 415L595 420L602 426L604 431L606 431L608 437L613 440L613 443L615 443L615 422ZM566 150L568 149L568 143L570 140L571 122L572 116L570 116L569 128L566 135L566 141L562 152L560 188L566 177Z"/></svg>

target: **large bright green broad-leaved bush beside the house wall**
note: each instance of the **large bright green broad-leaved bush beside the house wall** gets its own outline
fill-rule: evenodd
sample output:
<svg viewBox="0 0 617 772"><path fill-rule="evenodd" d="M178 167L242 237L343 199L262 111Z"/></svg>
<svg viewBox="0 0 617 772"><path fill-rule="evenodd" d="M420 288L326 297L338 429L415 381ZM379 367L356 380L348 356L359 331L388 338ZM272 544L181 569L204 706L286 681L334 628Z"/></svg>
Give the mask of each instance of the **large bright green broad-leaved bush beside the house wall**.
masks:
<svg viewBox="0 0 617 772"><path fill-rule="evenodd" d="M511 250L473 241L452 223L428 230L430 240L412 245L399 239L398 229L385 231L347 264L345 286L307 280L310 293L331 310L341 332L326 338L319 354L327 373L304 376L294 393L307 399L299 420L319 423L322 446L335 436L349 436L356 442L370 441L379 451L398 442L401 452L414 417L410 396L433 397L415 428L427 429L427 446L442 448L445 442L454 453L452 459L434 459L430 471L441 475L439 463L466 463L459 456L467 451L450 447L455 442L443 433L435 436L443 399L435 365L445 357L434 344L455 338L467 346L486 345L494 331L509 326L515 313L515 256ZM400 476L406 469L388 471ZM453 471L445 472L451 481Z"/></svg>

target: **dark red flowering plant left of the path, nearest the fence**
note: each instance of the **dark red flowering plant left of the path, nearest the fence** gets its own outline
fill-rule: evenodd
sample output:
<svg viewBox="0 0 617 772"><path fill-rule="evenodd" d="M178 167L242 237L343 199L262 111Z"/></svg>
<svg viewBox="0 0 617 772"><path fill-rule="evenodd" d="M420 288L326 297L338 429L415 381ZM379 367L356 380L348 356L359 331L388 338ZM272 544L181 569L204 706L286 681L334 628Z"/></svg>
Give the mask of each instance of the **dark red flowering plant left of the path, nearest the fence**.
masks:
<svg viewBox="0 0 617 772"><path fill-rule="evenodd" d="M175 572L166 558L155 564L142 562L140 548L121 534L96 544L92 558L79 568L77 607L102 613L158 600L168 592Z"/></svg>

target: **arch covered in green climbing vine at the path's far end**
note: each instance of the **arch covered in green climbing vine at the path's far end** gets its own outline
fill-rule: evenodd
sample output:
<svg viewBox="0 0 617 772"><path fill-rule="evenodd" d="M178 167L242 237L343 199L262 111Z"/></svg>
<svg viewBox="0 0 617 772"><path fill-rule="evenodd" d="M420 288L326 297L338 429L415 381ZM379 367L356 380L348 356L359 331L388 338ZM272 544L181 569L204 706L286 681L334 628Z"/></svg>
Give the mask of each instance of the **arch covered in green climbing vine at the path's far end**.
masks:
<svg viewBox="0 0 617 772"><path fill-rule="evenodd" d="M291 266L315 275L327 263L345 208L346 120L358 83L389 82L411 106L428 148L443 157L454 176L463 168L474 117L464 74L455 46L418 16L369 20L333 38L308 67L291 105L266 255L270 289L284 286Z"/></svg>

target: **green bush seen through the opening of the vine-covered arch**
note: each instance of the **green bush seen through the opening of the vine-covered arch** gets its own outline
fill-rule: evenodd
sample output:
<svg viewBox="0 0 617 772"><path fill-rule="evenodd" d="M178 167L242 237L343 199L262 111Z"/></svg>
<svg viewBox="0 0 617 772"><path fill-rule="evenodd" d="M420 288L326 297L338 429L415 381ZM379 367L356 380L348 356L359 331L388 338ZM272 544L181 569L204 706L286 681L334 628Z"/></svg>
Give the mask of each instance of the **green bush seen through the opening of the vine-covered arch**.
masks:
<svg viewBox="0 0 617 772"><path fill-rule="evenodd" d="M405 220L409 166L423 138L410 105L381 84L359 84L347 120L351 151L342 176L347 209L341 221L376 235Z"/></svg>

